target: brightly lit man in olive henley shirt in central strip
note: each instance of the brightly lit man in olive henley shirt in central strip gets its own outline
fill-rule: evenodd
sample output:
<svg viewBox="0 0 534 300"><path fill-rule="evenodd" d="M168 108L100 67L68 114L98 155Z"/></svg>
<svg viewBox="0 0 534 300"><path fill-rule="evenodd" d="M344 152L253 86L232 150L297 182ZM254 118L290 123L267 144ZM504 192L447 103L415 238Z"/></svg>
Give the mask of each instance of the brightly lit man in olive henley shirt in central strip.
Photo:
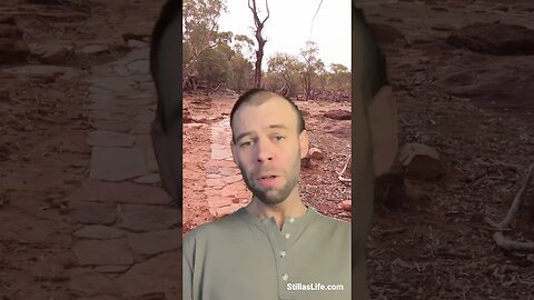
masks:
<svg viewBox="0 0 534 300"><path fill-rule="evenodd" d="M297 107L254 89L235 103L230 127L253 199L185 237L184 299L350 299L350 224L299 198L308 133Z"/></svg>

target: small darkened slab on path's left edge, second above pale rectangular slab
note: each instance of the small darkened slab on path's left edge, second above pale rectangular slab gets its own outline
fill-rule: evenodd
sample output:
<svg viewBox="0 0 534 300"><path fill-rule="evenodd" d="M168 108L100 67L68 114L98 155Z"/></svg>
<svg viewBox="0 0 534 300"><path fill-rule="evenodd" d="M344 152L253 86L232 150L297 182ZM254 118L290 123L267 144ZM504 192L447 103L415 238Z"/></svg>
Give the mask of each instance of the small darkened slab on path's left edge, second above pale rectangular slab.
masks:
<svg viewBox="0 0 534 300"><path fill-rule="evenodd" d="M73 201L69 207L72 220L85 224L112 224L117 218L112 203Z"/></svg>

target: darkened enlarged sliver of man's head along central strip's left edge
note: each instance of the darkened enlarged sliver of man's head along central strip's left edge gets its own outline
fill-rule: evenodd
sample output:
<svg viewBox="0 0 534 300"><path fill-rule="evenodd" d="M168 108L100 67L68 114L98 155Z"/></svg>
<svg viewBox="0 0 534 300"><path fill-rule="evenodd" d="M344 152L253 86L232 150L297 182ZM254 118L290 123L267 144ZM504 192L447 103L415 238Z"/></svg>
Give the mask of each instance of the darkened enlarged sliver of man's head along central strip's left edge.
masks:
<svg viewBox="0 0 534 300"><path fill-rule="evenodd" d="M150 127L161 183L182 209L181 187L181 1L168 0L152 30L150 74L157 92L156 119ZM177 83L178 82L178 83Z"/></svg>

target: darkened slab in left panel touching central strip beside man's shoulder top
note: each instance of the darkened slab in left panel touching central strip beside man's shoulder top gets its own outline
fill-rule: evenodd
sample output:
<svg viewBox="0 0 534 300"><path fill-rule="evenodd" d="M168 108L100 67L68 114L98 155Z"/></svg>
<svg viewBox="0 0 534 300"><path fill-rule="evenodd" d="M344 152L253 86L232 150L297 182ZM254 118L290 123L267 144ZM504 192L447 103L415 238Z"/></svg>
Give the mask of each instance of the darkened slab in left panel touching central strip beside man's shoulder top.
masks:
<svg viewBox="0 0 534 300"><path fill-rule="evenodd" d="M181 228L150 231L146 233L128 233L128 243L134 253L156 256L181 248Z"/></svg>

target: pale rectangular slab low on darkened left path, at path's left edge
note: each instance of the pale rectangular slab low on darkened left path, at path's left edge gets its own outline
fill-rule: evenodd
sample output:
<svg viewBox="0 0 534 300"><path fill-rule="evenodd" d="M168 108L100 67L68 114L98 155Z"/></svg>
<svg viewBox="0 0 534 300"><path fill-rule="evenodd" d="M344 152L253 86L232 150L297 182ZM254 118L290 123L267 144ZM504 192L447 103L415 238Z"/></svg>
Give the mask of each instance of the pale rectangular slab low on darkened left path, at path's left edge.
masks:
<svg viewBox="0 0 534 300"><path fill-rule="evenodd" d="M72 247L80 266L129 266L134 256L125 239L83 240Z"/></svg>

